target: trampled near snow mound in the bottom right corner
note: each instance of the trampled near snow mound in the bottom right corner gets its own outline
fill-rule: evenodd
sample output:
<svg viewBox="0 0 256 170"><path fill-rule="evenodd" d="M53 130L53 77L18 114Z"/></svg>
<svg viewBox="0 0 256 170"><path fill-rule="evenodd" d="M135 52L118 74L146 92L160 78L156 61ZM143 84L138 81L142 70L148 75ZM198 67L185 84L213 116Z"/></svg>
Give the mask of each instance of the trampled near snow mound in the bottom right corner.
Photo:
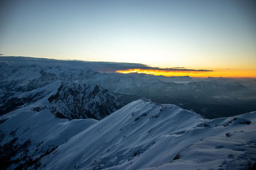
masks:
<svg viewBox="0 0 256 170"><path fill-rule="evenodd" d="M255 169L256 140L243 137L244 134L236 132L229 139L227 136L204 138L181 150L179 159L145 169Z"/></svg>

